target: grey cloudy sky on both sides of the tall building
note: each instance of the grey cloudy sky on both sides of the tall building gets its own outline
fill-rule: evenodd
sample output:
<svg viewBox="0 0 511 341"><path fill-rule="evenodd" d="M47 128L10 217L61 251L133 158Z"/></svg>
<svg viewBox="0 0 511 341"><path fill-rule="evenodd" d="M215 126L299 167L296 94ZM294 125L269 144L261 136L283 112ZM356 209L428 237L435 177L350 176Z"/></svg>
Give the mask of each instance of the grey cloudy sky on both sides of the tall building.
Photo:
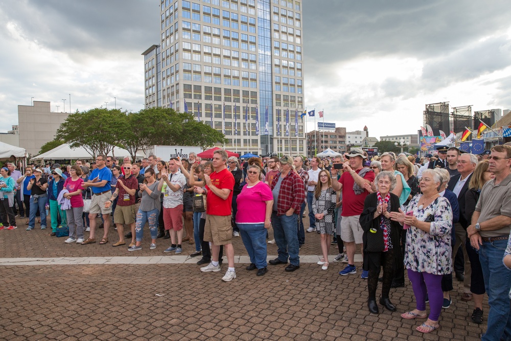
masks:
<svg viewBox="0 0 511 341"><path fill-rule="evenodd" d="M508 1L304 0L307 109L377 138L415 133L428 103L509 109L510 17ZM0 131L31 97L142 109L153 43L159 0L0 0Z"/></svg>

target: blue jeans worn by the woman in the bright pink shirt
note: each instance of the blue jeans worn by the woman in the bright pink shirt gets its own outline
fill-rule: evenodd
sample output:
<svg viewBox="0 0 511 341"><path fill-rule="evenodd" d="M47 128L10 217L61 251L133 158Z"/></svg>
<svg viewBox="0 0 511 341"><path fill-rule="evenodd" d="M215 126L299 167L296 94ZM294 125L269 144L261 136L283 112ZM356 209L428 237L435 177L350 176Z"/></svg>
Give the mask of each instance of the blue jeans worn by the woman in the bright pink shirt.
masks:
<svg viewBox="0 0 511 341"><path fill-rule="evenodd" d="M264 224L239 224L241 239L247 249L250 263L258 269L266 267L266 229Z"/></svg>

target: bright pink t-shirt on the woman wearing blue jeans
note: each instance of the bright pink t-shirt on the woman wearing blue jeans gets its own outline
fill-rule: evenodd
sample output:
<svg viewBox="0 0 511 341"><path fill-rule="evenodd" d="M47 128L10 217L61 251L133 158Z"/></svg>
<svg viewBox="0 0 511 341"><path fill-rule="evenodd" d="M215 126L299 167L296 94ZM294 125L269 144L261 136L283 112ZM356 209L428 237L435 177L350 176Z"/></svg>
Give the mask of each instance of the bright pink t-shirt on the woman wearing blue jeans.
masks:
<svg viewBox="0 0 511 341"><path fill-rule="evenodd" d="M266 218L266 202L273 200L270 187L259 181L255 186L248 188L243 186L241 193L238 194L236 202L238 203L238 213L236 222L238 224L258 224L264 223Z"/></svg>

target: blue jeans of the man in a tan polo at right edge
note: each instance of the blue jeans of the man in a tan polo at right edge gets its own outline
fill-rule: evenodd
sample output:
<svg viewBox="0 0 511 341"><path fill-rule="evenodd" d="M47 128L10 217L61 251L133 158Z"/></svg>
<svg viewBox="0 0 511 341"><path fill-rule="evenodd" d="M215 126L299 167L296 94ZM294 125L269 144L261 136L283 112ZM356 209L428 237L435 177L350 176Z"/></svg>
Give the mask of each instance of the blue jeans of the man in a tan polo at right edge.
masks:
<svg viewBox="0 0 511 341"><path fill-rule="evenodd" d="M502 259L507 240L483 241L479 248L484 287L488 294L490 312L486 334L482 341L511 340L511 271L504 267Z"/></svg>

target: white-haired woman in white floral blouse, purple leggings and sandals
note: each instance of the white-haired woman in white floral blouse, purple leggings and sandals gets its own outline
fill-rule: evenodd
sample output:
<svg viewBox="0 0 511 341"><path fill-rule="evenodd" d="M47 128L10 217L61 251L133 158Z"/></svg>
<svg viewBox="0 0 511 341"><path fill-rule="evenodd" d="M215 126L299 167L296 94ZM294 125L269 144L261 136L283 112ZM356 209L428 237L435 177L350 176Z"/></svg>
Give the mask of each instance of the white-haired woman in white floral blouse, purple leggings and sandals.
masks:
<svg viewBox="0 0 511 341"><path fill-rule="evenodd" d="M417 331L430 333L439 328L444 294L442 276L452 271L452 210L449 200L438 194L442 179L433 170L425 170L421 178L422 195L412 198L404 212L391 212L392 220L409 227L406 234L405 267L412 282L416 309L401 315L403 319L428 320ZM426 313L426 294L431 308Z"/></svg>

